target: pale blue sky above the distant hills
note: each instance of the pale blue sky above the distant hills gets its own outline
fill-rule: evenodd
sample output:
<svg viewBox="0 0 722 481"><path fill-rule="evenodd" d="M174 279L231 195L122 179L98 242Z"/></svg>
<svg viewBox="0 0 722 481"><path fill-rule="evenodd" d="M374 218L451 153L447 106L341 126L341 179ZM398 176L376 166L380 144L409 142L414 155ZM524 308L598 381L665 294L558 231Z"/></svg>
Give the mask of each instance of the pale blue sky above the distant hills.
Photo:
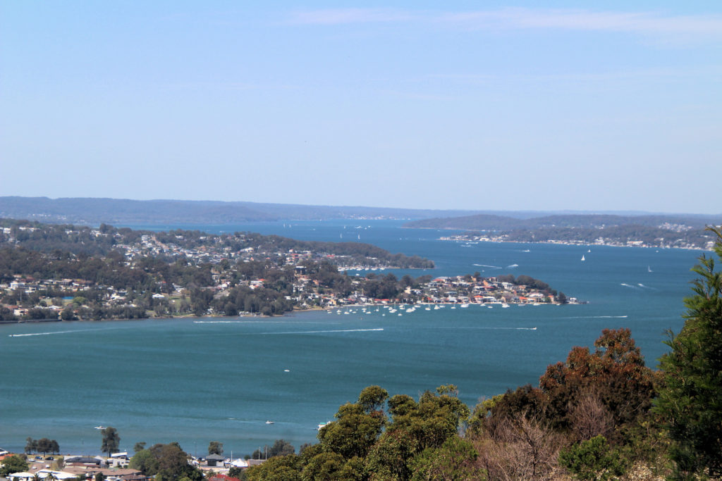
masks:
<svg viewBox="0 0 722 481"><path fill-rule="evenodd" d="M0 2L0 195L722 213L721 178L718 1Z"/></svg>

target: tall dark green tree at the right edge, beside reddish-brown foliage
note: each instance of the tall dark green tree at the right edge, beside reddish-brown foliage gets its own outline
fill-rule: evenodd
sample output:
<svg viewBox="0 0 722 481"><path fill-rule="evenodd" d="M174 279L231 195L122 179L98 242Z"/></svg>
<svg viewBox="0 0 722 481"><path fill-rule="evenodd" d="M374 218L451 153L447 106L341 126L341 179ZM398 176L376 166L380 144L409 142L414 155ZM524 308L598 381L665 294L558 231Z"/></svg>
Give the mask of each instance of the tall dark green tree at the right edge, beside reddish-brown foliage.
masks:
<svg viewBox="0 0 722 481"><path fill-rule="evenodd" d="M664 381L655 410L664 418L671 438L674 479L691 479L706 471L722 477L722 231L716 234L714 256L702 255L692 270L699 277L693 295L684 299L684 327L669 331L671 352L660 358Z"/></svg>

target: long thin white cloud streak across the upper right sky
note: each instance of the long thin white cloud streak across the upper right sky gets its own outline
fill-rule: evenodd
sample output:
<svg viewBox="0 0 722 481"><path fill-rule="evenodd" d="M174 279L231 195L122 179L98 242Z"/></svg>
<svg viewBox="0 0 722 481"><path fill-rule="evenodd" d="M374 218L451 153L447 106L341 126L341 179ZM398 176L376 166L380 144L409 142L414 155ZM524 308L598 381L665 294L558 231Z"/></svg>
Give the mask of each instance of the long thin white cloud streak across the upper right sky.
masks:
<svg viewBox="0 0 722 481"><path fill-rule="evenodd" d="M593 12L503 8L474 12L429 12L398 9L321 9L295 12L299 25L352 23L427 23L484 30L578 30L646 35L722 37L722 15L664 15L653 12Z"/></svg>

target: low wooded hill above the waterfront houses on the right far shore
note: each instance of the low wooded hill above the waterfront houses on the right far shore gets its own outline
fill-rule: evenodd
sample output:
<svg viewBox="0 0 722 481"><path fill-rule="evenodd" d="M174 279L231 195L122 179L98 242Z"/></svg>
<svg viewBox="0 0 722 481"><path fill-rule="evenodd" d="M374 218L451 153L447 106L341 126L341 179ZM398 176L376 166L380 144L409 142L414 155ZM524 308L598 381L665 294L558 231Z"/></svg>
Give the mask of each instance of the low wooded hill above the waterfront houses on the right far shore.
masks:
<svg viewBox="0 0 722 481"><path fill-rule="evenodd" d="M436 217L404 224L404 227L427 229L458 229L469 231L512 231L520 229L548 229L565 227L599 229L612 226L637 225L646 227L666 226L666 229L703 229L709 224L721 224L722 215L701 216L697 214L648 214L618 216L612 214L565 214L518 219L510 216L477 214L461 217Z"/></svg>

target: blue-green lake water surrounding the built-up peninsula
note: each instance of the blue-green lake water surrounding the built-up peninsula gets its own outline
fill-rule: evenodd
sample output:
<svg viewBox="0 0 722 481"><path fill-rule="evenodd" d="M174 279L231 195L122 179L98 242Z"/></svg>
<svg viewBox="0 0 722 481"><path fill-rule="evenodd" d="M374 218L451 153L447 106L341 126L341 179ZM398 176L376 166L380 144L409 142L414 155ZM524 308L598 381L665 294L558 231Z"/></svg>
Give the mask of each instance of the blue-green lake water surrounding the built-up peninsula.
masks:
<svg viewBox="0 0 722 481"><path fill-rule="evenodd" d="M401 317L357 309L271 319L2 325L0 446L22 450L27 436L48 437L64 452L97 454L100 433L93 427L112 425L121 449L129 451L137 441L179 441L193 454L204 454L209 441L222 441L225 453L234 456L278 438L298 447L315 441L316 425L332 419L339 405L354 401L367 385L417 397L453 383L473 406L480 397L536 384L549 363L563 360L573 345L591 345L605 327L630 327L655 366L665 352L664 330L682 326L682 298L690 293L690 268L700 254L537 244L462 247L436 240L448 231L400 224L181 227L370 242L430 257L437 264L427 272L432 275L526 274L589 304L417 309ZM157 229L168 227L179 226Z"/></svg>

